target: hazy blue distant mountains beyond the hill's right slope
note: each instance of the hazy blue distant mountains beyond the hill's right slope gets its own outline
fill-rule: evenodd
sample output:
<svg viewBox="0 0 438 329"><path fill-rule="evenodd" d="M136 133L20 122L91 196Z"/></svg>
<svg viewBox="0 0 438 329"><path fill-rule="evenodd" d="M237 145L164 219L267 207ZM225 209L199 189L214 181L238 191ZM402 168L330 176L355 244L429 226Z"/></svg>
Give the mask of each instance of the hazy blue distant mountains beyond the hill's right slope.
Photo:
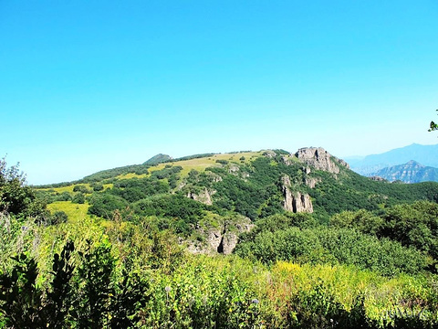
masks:
<svg viewBox="0 0 438 329"><path fill-rule="evenodd" d="M438 144L412 143L383 154L347 157L345 160L360 175L380 176L391 182L438 181Z"/></svg>

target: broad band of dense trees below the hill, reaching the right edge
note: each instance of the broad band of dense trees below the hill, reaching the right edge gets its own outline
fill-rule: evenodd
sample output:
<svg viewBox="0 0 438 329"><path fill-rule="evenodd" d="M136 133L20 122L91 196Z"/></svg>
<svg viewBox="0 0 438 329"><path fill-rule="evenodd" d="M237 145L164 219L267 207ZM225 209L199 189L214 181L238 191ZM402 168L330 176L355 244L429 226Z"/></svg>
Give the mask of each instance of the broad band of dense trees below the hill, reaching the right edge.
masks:
<svg viewBox="0 0 438 329"><path fill-rule="evenodd" d="M385 276L437 271L436 203L398 205L381 216L364 209L344 211L330 218L328 227L310 214L275 215L255 225L235 253L265 264L347 264Z"/></svg>

